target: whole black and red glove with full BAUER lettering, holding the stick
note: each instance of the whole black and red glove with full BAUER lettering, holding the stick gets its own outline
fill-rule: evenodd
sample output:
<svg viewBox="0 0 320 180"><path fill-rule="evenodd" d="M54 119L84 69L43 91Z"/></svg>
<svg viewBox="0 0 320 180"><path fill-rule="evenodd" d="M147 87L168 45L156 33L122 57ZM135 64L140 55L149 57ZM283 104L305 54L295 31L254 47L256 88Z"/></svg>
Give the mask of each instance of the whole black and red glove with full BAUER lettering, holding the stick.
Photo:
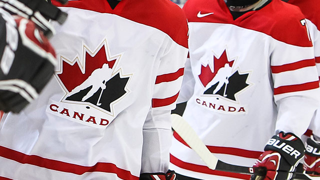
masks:
<svg viewBox="0 0 320 180"><path fill-rule="evenodd" d="M304 156L304 146L300 138L293 133L280 132L266 143L264 152L253 167L264 169L265 176L253 174L253 179L285 180L293 177L299 160Z"/></svg>

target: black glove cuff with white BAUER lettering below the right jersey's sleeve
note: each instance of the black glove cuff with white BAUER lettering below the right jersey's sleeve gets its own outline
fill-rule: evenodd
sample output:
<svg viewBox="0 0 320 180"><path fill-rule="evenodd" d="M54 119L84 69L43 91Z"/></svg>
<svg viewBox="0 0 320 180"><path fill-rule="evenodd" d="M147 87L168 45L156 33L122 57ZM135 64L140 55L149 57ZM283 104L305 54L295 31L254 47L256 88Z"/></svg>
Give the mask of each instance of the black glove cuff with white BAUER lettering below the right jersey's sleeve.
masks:
<svg viewBox="0 0 320 180"><path fill-rule="evenodd" d="M279 152L290 165L294 166L303 158L305 151L303 142L299 137L291 132L284 133L282 131L270 138L264 150Z"/></svg>

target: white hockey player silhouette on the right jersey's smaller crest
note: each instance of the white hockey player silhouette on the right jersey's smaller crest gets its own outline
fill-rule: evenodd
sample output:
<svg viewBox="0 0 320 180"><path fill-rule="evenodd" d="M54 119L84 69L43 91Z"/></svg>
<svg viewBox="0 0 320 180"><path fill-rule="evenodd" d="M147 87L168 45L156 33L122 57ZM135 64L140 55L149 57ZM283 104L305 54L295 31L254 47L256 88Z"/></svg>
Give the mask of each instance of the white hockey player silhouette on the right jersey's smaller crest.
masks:
<svg viewBox="0 0 320 180"><path fill-rule="evenodd" d="M226 85L229 83L228 78L232 75L231 71L232 71L232 67L230 67L228 63L225 63L224 67L219 68L219 70L216 72L212 80L208 84L206 84L204 91L206 91L208 88L210 88L212 85L214 85L217 82L218 82L218 85L213 90L213 94L219 91L224 83L226 88ZM224 93L225 93L225 90L224 90ZM225 96L225 94L223 95Z"/></svg>

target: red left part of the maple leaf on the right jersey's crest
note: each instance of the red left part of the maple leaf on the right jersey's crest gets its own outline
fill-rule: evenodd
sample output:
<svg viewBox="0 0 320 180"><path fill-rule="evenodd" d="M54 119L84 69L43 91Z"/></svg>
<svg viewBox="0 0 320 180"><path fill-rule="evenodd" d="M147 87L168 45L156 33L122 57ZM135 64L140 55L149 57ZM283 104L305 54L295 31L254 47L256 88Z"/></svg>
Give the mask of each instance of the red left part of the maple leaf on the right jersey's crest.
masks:
<svg viewBox="0 0 320 180"><path fill-rule="evenodd" d="M206 84L208 84L212 80L219 68L223 67L226 63L228 63L229 66L232 67L233 62L234 60L228 61L225 50L222 52L220 58L216 58L213 55L213 72L211 71L209 65L201 65L201 73L198 76L203 86L205 87Z"/></svg>

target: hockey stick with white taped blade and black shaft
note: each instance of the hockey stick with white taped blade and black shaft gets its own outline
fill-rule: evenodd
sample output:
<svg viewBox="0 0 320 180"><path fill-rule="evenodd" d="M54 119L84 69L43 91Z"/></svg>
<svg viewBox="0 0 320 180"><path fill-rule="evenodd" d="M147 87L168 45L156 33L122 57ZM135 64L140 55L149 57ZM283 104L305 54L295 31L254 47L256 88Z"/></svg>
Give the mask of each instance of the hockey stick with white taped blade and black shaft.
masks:
<svg viewBox="0 0 320 180"><path fill-rule="evenodd" d="M215 157L204 145L192 127L178 114L171 114L172 128L178 135L200 156L203 162L212 170L236 172L242 174L257 174L265 176L265 171L258 168L246 167L225 163ZM296 172L296 177L304 180L318 180L320 177L313 177L302 172ZM257 178L256 178L257 179Z"/></svg>

